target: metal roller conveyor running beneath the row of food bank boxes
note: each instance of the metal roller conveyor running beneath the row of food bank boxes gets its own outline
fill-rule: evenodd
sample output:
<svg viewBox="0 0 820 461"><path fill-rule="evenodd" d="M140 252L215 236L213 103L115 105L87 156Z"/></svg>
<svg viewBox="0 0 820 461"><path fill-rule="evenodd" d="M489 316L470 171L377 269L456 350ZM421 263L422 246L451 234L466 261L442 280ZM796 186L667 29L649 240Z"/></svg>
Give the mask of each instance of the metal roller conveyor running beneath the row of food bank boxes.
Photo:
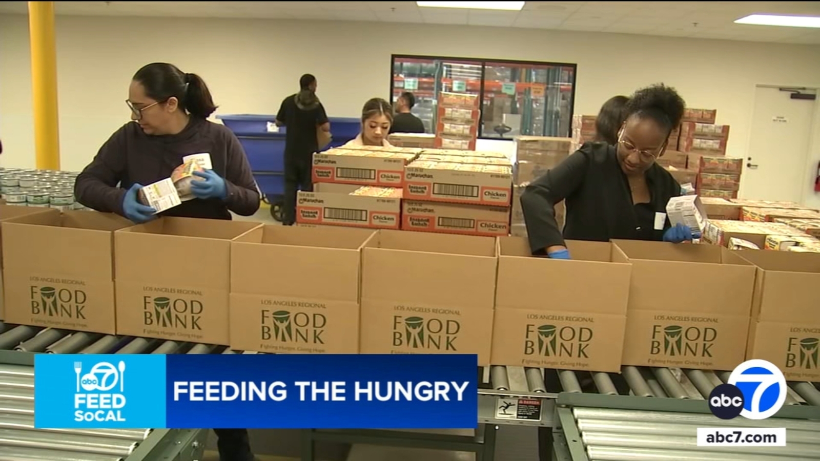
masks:
<svg viewBox="0 0 820 461"><path fill-rule="evenodd" d="M35 326L0 326L0 461L194 461L201 459L207 429L45 431L34 429L34 354L257 354L225 346L100 335ZM774 418L724 422L709 413L705 397L728 372L665 367L623 367L622 373L479 367L476 436L383 430L302 431L302 459L313 461L316 442L410 446L476 453L493 461L501 425L543 427L553 459L602 461L690 459L800 459L820 453L820 390L790 382L786 405ZM505 415L523 399L526 417ZM704 419L705 418L705 419ZM694 446L698 426L787 427L787 450L706 451ZM796 437L796 439L794 438ZM55 445L60 444L60 445ZM771 450L777 450L772 448ZM812 451L813 450L813 451Z"/></svg>

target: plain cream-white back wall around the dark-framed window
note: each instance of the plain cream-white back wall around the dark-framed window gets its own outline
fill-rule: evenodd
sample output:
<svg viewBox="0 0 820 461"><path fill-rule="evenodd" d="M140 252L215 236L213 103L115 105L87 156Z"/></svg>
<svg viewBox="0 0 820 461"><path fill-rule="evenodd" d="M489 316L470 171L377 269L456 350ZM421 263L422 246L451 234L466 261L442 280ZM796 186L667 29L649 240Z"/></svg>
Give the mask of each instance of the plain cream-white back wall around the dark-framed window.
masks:
<svg viewBox="0 0 820 461"><path fill-rule="evenodd" d="M389 95L390 54L578 65L576 113L646 84L676 87L690 107L717 108L729 151L749 139L755 84L820 86L820 47L626 34L375 22L57 17L62 168L79 170L129 116L130 77L148 62L202 75L217 113L273 113L317 75L330 116L358 116ZM34 166L28 23L0 16L0 164Z"/></svg>

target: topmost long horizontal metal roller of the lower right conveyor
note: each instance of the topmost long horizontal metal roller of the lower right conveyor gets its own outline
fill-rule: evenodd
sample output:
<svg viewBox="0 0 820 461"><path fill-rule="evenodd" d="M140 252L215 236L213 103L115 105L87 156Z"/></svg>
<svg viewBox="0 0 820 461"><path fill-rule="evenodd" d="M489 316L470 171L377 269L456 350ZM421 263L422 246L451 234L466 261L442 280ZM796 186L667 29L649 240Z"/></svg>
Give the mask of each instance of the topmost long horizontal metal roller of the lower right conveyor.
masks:
<svg viewBox="0 0 820 461"><path fill-rule="evenodd" d="M656 412L645 410L590 409L576 407L572 409L576 419L605 419L608 421L651 422L653 424L690 424L700 427L731 426L737 421L715 418L712 414ZM744 419L745 427L786 427L788 430L820 432L820 422L803 419L768 418L763 420ZM820 433L818 433L820 440Z"/></svg>

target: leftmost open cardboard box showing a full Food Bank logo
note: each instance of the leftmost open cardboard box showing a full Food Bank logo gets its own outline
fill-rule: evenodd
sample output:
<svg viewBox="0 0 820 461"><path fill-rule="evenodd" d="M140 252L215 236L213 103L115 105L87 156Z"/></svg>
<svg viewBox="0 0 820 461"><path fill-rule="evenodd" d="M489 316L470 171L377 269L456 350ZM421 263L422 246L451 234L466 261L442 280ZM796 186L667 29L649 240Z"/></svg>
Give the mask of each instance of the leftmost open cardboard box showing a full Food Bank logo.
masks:
<svg viewBox="0 0 820 461"><path fill-rule="evenodd" d="M3 221L5 320L115 334L112 232L133 225L91 211Z"/></svg>

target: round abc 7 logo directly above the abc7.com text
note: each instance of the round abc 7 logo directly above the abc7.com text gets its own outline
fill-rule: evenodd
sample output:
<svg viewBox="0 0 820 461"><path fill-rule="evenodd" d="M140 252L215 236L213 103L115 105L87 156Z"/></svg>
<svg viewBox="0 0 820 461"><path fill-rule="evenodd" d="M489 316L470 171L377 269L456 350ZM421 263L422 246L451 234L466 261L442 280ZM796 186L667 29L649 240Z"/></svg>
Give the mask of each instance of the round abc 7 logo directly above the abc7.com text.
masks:
<svg viewBox="0 0 820 461"><path fill-rule="evenodd" d="M770 418L786 402L786 389L786 377L779 368L766 360L748 360L735 367L727 384L712 390L709 409L721 419Z"/></svg>

